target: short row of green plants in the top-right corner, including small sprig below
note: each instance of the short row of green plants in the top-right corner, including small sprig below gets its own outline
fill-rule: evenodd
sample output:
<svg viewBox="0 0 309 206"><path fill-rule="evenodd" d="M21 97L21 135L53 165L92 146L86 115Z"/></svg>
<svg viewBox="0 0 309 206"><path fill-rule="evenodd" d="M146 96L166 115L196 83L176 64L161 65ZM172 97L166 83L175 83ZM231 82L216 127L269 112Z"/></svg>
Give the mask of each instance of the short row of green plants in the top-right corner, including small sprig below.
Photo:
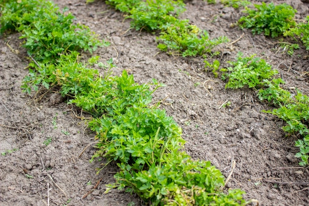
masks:
<svg viewBox="0 0 309 206"><path fill-rule="evenodd" d="M300 48L299 44L284 42L283 37L296 42L300 40L309 50L309 16L299 23L296 22L297 10L286 3L274 5L273 2L269 4L262 2L262 4L254 4L254 7L255 9L245 8L243 12L246 15L240 17L237 22L240 28L250 29L253 34L280 38L290 55L293 54L294 49Z"/></svg>

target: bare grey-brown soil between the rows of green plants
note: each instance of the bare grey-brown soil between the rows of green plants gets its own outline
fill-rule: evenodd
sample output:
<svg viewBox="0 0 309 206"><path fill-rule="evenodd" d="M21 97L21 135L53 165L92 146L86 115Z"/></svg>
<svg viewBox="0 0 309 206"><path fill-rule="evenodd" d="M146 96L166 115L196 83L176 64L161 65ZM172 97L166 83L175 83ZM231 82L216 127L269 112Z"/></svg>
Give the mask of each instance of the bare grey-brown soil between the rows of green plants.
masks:
<svg viewBox="0 0 309 206"><path fill-rule="evenodd" d="M309 15L308 4L300 0L276 1L282 2L299 10L297 19ZM232 161L236 162L228 188L244 190L245 199L257 199L261 206L309 205L309 170L299 167L294 157L296 139L285 136L281 120L261 112L271 107L257 99L256 91L225 89L225 82L205 72L201 57L159 52L153 34L128 30L129 20L123 20L123 14L102 1L87 5L84 0L56 3L69 7L77 22L111 41L111 46L96 54L102 61L114 59L114 74L126 69L136 82L154 78L166 84L154 93L154 102L165 99L160 107L183 128L187 152L194 159L210 160L226 177ZM187 3L182 18L206 29L212 38L225 35L234 41L243 33L231 27L240 15L239 10L219 3L193 0ZM276 41L244 31L239 41L217 48L223 51L217 59L227 66L238 51L255 53L279 70L286 89L295 92L292 88L297 87L308 95L308 52L301 48L290 57ZM112 163L96 174L104 160L89 163L95 151L92 145L78 158L94 142L94 133L77 118L77 108L54 92L46 93L40 101L34 100L34 94L21 92L28 62L20 42L18 34L0 39L0 205L145 205L136 195L124 191L104 194L105 185L114 181L117 166ZM231 105L221 107L227 100ZM43 144L50 138L48 146ZM93 192L83 198L89 191Z"/></svg>

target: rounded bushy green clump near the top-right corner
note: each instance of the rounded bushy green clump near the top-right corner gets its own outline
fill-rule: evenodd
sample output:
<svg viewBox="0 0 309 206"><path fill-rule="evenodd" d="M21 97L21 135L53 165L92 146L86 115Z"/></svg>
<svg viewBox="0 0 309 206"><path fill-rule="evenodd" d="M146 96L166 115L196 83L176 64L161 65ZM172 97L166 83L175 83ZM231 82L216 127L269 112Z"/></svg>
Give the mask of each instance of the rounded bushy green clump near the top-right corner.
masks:
<svg viewBox="0 0 309 206"><path fill-rule="evenodd" d="M297 10L286 3L275 6L272 2L262 2L262 5L254 6L257 10L247 8L245 12L248 15L238 20L241 28L251 29L253 34L264 33L265 36L275 38L296 26L294 16Z"/></svg>

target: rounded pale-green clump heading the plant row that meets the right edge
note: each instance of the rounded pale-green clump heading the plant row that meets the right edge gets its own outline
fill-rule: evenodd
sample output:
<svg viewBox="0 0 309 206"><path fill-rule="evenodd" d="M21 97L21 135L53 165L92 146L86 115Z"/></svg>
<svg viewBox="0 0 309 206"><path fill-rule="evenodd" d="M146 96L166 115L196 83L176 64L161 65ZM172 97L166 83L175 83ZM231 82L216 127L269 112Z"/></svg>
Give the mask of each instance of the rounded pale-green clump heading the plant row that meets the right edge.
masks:
<svg viewBox="0 0 309 206"><path fill-rule="evenodd" d="M242 57L242 53L239 53L236 61L230 62L233 67L228 67L230 73L226 74L229 78L226 88L236 89L247 85L249 88L259 89L266 84L265 81L278 73L264 59L254 56Z"/></svg>

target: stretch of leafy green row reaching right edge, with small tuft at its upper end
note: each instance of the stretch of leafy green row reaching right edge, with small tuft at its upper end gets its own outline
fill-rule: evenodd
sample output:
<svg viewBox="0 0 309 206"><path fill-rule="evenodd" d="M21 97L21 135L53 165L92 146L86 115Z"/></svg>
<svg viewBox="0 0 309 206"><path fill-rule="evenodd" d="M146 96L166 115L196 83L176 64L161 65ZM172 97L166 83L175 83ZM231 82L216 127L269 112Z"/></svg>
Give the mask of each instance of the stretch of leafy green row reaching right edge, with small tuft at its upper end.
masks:
<svg viewBox="0 0 309 206"><path fill-rule="evenodd" d="M242 53L238 53L236 60L229 63L230 67L219 70L218 61L211 64L205 60L205 67L211 68L216 77L220 72L221 78L227 81L226 88L252 88L258 91L257 96L261 101L274 105L276 109L263 112L284 120L286 125L282 127L283 130L289 135L298 136L296 146L300 148L300 152L296 157L300 158L300 165L308 165L309 97L299 90L291 93L281 88L280 85L285 82L274 78L278 71L272 70L270 64L255 55L243 57Z"/></svg>

